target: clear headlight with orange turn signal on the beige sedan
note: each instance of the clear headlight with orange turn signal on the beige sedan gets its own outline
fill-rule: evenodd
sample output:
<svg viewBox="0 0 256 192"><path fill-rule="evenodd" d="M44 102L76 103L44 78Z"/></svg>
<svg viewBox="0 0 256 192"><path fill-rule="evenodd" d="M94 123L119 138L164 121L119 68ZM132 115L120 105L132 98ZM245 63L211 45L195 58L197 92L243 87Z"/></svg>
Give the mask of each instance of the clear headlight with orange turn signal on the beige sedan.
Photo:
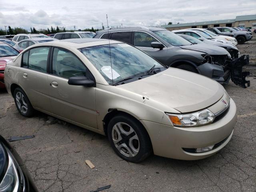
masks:
<svg viewBox="0 0 256 192"><path fill-rule="evenodd" d="M210 124L214 120L214 114L210 110L194 112L191 114L166 113L174 126L192 127Z"/></svg>

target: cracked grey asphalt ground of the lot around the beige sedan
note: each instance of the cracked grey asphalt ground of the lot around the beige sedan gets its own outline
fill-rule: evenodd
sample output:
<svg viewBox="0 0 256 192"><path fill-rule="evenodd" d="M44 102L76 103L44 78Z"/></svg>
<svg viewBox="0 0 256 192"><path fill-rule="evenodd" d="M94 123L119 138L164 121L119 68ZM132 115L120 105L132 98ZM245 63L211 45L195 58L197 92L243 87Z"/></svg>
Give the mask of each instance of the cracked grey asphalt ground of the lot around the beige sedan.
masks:
<svg viewBox="0 0 256 192"><path fill-rule="evenodd" d="M255 64L256 41L239 45ZM256 66L247 66L251 86L225 86L234 99L238 122L230 142L217 154L197 161L150 156L140 164L126 162L105 136L38 112L22 117L13 98L0 90L0 133L35 135L12 142L39 191L88 192L111 184L113 192L255 192L256 191ZM85 160L90 160L90 169Z"/></svg>

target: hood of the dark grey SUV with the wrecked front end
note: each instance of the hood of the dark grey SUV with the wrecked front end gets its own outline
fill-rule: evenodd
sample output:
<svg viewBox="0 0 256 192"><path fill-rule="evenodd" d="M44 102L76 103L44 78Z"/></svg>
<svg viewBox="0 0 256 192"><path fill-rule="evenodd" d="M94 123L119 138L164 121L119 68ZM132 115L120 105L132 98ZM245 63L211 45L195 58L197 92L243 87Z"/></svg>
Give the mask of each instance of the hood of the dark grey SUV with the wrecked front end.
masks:
<svg viewBox="0 0 256 192"><path fill-rule="evenodd" d="M218 44L218 43L216 43L216 44ZM226 55L226 54L228 54L228 51L222 47L218 47L218 46L213 47L212 45L207 45L207 44L202 44L202 43L188 45L188 46L180 46L180 48L194 50L194 51L200 51L200 52L204 52L209 55Z"/></svg>

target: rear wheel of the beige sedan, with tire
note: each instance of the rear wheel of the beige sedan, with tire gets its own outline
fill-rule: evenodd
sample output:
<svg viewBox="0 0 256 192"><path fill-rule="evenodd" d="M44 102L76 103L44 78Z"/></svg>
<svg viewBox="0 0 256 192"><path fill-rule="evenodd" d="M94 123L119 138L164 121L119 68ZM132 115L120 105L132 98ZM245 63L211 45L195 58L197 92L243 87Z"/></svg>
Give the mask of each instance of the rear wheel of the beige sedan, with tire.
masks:
<svg viewBox="0 0 256 192"><path fill-rule="evenodd" d="M22 116L30 117L34 114L34 108L21 88L14 90L14 102Z"/></svg>

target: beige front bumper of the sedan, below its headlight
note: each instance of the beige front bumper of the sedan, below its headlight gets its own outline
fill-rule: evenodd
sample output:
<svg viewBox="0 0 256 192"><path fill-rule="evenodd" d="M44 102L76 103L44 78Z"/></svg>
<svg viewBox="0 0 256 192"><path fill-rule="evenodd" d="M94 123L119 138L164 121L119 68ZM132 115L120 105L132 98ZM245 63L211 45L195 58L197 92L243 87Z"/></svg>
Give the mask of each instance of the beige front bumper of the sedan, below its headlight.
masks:
<svg viewBox="0 0 256 192"><path fill-rule="evenodd" d="M236 104L230 98L230 108L220 120L200 127L180 128L140 120L150 136L154 154L181 160L198 160L221 150L231 139L236 124ZM226 139L226 140L225 140ZM216 145L208 152L190 153L183 148L202 148Z"/></svg>

